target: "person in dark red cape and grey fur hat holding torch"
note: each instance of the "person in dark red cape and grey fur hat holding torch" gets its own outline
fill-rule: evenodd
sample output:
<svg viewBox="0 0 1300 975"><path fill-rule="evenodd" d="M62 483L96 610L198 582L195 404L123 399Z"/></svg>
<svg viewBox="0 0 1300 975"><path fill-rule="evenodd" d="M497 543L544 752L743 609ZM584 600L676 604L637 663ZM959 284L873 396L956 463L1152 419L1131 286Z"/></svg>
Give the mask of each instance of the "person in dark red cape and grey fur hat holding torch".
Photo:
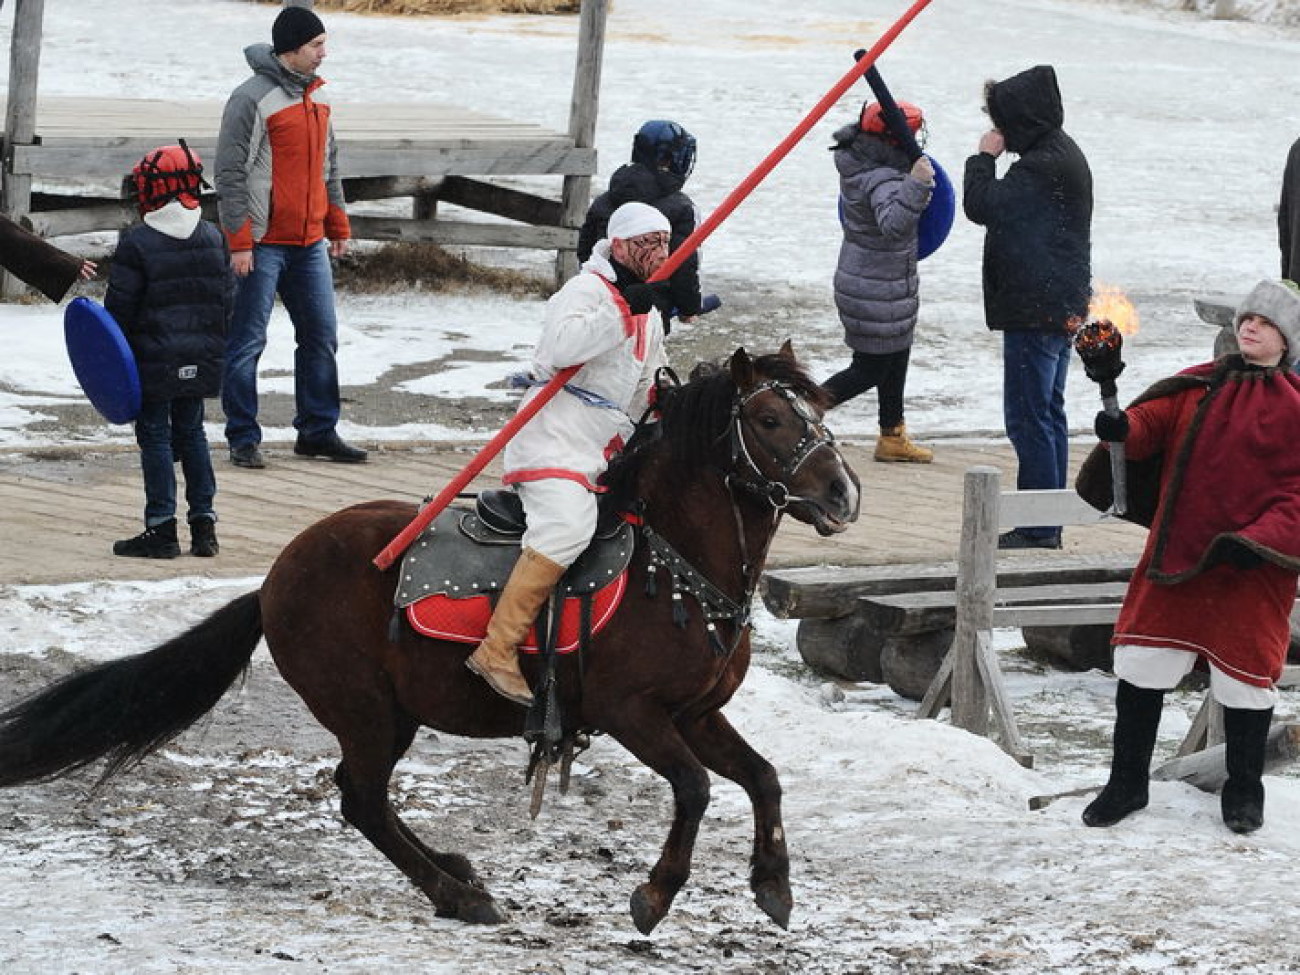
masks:
<svg viewBox="0 0 1300 975"><path fill-rule="evenodd" d="M1124 443L1128 508L1150 534L1112 638L1114 754L1087 826L1145 807L1165 692L1199 660L1223 706L1223 823L1264 824L1265 744L1300 576L1300 290L1261 281L1236 311L1236 337L1240 354L1096 419L1100 439ZM1109 500L1109 469L1098 448L1080 471L1092 504Z"/></svg>

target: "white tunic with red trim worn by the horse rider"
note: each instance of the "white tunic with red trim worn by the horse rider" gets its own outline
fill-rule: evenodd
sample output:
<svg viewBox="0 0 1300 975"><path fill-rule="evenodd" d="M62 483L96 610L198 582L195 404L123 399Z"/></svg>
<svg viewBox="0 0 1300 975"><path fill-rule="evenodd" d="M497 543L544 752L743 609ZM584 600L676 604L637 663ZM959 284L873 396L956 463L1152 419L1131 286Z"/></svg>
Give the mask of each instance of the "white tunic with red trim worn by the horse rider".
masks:
<svg viewBox="0 0 1300 975"><path fill-rule="evenodd" d="M598 490L595 480L630 436L649 404L654 373L664 364L659 313L632 315L614 287L608 240L601 240L582 272L546 303L546 324L533 352L533 376L550 380L584 364L569 380L604 400L584 402L560 390L506 445L506 484L564 477ZM534 386L520 408L537 395Z"/></svg>

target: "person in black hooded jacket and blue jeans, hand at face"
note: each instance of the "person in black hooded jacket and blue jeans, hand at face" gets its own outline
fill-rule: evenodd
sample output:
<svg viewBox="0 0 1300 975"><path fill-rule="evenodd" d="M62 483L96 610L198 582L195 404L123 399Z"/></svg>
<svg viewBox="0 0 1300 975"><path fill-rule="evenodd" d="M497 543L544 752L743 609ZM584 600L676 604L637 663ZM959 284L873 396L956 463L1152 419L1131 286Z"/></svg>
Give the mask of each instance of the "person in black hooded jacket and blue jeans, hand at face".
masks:
<svg viewBox="0 0 1300 975"><path fill-rule="evenodd" d="M1056 72L1037 65L985 88L993 129L966 160L962 205L987 229L984 318L1002 333L1002 413L1019 462L1017 488L1063 488L1070 325L1092 292L1092 173L1061 125ZM1004 151L1019 159L997 178ZM1061 528L1006 532L1004 549L1060 549Z"/></svg>

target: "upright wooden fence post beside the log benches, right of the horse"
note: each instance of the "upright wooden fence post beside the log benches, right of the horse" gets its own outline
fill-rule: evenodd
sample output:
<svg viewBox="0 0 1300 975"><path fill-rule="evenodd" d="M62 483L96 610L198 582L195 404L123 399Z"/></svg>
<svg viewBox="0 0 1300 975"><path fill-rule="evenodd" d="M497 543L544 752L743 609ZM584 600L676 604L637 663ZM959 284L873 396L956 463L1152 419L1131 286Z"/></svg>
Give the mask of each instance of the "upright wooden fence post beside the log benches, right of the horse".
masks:
<svg viewBox="0 0 1300 975"><path fill-rule="evenodd" d="M997 588L997 504L1001 472L972 467L962 497L962 538L957 552L957 628L953 636L953 724L988 734L988 697L979 667L979 638L993 629Z"/></svg>

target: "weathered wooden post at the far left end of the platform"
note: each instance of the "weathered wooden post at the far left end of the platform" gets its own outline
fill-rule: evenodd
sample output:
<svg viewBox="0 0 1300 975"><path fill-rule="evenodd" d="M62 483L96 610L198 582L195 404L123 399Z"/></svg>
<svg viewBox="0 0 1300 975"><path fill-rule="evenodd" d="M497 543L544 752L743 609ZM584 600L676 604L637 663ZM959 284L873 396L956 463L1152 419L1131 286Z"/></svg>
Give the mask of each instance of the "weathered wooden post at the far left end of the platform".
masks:
<svg viewBox="0 0 1300 975"><path fill-rule="evenodd" d="M31 209L31 174L14 172L14 148L36 140L36 79L40 70L40 32L46 0L17 0L9 44L9 103L4 118L4 160L0 164L0 211L21 221ZM0 274L0 296L17 298L25 286L12 274Z"/></svg>

